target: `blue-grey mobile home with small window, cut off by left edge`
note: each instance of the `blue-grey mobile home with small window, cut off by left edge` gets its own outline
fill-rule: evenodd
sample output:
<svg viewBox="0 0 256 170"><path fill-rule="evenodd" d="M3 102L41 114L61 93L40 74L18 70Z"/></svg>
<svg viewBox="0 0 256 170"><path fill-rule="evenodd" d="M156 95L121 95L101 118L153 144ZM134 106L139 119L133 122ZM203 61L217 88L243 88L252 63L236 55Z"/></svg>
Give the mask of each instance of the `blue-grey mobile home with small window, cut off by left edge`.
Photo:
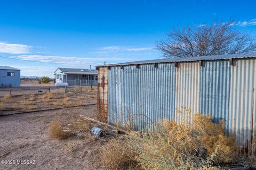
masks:
<svg viewBox="0 0 256 170"><path fill-rule="evenodd" d="M0 66L0 87L20 87L20 70Z"/></svg>

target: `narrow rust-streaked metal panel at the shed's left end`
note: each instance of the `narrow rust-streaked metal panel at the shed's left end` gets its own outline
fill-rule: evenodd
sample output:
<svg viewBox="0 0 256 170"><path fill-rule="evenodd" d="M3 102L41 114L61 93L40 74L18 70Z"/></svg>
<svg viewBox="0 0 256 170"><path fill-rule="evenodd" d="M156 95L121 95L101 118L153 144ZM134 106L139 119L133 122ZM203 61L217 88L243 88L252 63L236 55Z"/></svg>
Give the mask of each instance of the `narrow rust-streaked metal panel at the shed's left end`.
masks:
<svg viewBox="0 0 256 170"><path fill-rule="evenodd" d="M98 120L107 122L108 117L108 68L98 68Z"/></svg>

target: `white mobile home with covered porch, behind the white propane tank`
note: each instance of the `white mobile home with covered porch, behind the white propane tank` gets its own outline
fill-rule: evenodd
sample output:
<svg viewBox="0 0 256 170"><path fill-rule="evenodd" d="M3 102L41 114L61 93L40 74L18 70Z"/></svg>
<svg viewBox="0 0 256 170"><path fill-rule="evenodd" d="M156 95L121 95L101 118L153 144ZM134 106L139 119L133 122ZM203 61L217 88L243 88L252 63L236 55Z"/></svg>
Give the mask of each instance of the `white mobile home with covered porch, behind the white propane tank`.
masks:
<svg viewBox="0 0 256 170"><path fill-rule="evenodd" d="M58 68L54 75L55 82L67 82L69 86L97 85L98 82L97 70Z"/></svg>

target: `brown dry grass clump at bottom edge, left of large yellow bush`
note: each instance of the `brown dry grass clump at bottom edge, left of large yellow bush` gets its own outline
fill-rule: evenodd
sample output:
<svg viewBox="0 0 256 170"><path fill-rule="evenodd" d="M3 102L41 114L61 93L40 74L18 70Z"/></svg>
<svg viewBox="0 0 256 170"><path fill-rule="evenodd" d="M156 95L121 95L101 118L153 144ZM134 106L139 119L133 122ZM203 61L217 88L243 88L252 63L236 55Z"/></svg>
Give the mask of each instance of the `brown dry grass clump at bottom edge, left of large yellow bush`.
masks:
<svg viewBox="0 0 256 170"><path fill-rule="evenodd" d="M131 169L134 165L135 153L117 139L102 146L100 154L106 169Z"/></svg>

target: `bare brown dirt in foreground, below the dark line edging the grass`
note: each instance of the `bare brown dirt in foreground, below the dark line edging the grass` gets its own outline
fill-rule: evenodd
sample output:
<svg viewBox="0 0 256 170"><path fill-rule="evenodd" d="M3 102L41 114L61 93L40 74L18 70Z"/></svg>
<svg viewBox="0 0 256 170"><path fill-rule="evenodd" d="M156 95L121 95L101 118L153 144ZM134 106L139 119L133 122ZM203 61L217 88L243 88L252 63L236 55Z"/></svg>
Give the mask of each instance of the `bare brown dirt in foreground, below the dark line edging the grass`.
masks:
<svg viewBox="0 0 256 170"><path fill-rule="evenodd" d="M80 114L95 118L96 111L97 105L93 105L0 117L0 160L35 160L35 165L16 162L1 164L0 169L99 169L95 164L100 158L95 153L102 141L87 138L86 134L53 140L48 133L54 118Z"/></svg>

